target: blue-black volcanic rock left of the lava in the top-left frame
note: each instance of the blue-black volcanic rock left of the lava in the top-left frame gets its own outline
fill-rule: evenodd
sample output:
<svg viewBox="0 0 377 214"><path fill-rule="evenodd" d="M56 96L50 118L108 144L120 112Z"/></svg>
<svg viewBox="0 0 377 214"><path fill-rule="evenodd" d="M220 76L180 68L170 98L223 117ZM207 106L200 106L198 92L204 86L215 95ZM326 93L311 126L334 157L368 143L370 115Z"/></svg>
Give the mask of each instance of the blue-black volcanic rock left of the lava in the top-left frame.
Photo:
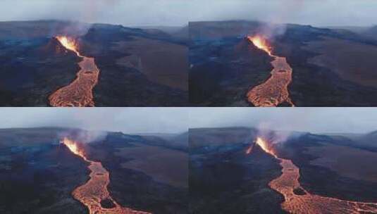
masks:
<svg viewBox="0 0 377 214"><path fill-rule="evenodd" d="M58 50L58 51L57 51ZM48 97L72 82L78 56L56 39L12 39L0 47L0 106L48 106Z"/></svg>

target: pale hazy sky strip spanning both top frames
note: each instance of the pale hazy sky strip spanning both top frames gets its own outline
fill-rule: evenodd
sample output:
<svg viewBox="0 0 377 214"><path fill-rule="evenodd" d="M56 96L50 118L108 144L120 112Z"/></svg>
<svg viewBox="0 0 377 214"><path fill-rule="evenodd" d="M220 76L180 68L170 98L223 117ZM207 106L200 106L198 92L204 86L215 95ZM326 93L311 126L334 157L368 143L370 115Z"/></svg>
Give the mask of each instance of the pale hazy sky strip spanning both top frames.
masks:
<svg viewBox="0 0 377 214"><path fill-rule="evenodd" d="M1 0L0 20L69 19L121 25L194 20L376 25L376 0Z"/></svg>

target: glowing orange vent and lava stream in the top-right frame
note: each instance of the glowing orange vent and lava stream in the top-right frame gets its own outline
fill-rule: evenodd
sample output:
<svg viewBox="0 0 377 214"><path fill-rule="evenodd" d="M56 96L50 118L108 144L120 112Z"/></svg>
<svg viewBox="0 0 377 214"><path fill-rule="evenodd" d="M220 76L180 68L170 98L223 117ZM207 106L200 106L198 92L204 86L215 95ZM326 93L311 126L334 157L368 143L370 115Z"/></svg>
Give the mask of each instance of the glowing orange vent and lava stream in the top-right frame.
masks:
<svg viewBox="0 0 377 214"><path fill-rule="evenodd" d="M268 53L269 56L275 58L271 62L273 70L271 77L263 84L252 88L247 93L247 100L257 107L276 107L281 103L289 103L292 107L295 106L288 92L288 86L292 82L292 68L285 57L275 56L272 53L272 47L267 40L260 35L254 37L247 37L249 42L254 46Z"/></svg>

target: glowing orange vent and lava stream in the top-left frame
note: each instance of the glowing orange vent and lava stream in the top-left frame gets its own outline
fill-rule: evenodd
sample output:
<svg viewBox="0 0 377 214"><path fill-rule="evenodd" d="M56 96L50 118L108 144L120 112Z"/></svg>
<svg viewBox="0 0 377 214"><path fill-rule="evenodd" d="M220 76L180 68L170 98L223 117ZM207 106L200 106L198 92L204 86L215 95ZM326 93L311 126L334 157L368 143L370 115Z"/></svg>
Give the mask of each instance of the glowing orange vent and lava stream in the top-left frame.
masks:
<svg viewBox="0 0 377 214"><path fill-rule="evenodd" d="M78 64L80 71L76 75L76 79L49 96L50 105L54 107L93 107L93 88L99 77L99 68L97 68L94 58L82 56L78 51L78 42L75 39L66 36L58 36L56 39L67 50L75 52L82 58L82 61Z"/></svg>

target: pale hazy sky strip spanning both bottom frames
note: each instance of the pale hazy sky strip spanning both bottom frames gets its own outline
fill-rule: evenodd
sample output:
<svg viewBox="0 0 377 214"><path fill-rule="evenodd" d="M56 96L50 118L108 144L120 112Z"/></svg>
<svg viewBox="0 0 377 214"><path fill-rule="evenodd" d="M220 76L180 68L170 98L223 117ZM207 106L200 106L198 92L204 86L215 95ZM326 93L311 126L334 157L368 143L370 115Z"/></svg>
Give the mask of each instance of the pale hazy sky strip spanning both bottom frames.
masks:
<svg viewBox="0 0 377 214"><path fill-rule="evenodd" d="M377 130L375 108L0 108L0 118L0 128L60 126L125 133L233 126L316 133Z"/></svg>

